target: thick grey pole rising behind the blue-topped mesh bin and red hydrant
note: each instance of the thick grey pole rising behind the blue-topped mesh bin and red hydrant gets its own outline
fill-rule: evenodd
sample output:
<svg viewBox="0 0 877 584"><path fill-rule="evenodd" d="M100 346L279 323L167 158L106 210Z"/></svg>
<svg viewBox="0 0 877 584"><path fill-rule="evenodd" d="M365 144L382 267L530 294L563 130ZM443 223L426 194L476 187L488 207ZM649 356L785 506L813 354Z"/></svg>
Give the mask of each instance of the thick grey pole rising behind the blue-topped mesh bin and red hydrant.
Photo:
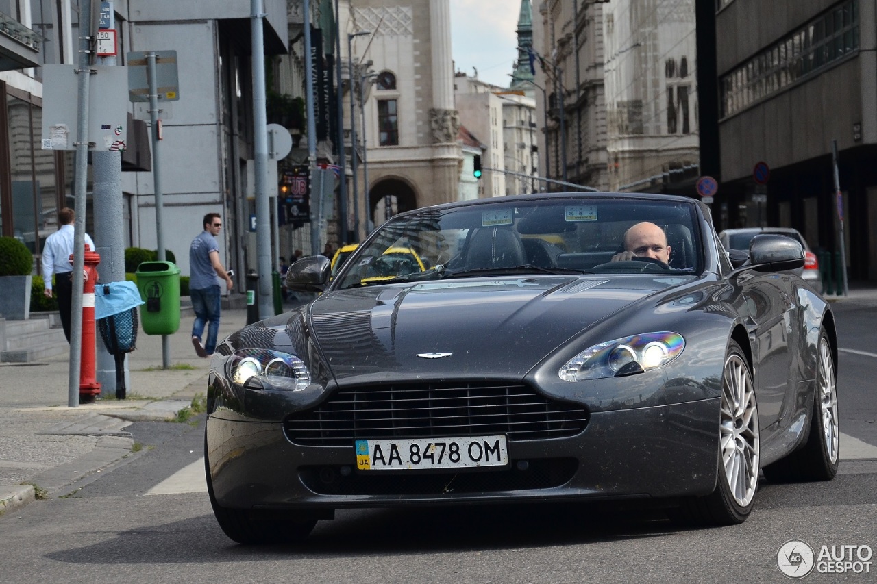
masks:
<svg viewBox="0 0 877 584"><path fill-rule="evenodd" d="M115 29L116 18L112 0L100 3L101 11L97 30ZM116 55L101 56L98 51L98 65L116 65ZM128 128L127 130L130 130ZM106 284L125 281L125 229L122 210L122 153L118 151L95 150L91 153L94 173L94 213L96 250L101 256L97 283ZM162 258L163 259L163 258ZM116 358L103 343L96 346L96 380L101 388L116 387ZM125 387L128 387L128 355L120 360L125 367Z"/></svg>

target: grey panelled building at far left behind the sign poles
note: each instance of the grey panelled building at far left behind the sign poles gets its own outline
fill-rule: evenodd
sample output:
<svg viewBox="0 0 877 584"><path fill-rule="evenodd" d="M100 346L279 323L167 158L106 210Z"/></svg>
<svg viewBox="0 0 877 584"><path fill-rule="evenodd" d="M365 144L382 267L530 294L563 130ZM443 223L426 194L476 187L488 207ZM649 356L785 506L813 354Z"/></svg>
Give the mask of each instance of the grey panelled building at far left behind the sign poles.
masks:
<svg viewBox="0 0 877 584"><path fill-rule="evenodd" d="M249 236L254 210L245 171L246 160L253 158L250 6L234 0L116 0L112 8L116 64L126 65L131 51L173 50L179 79L179 100L160 106L166 209L160 226L148 139L139 140L132 132L135 126L143 128L150 114L145 103L127 104L132 118L122 154L123 171L130 171L121 179L124 245L155 249L160 228L165 249L174 254L182 275L188 275L189 243L202 231L203 215L222 213L220 253L226 266L237 268L236 283L242 289L246 267L255 265ZM27 59L8 50L4 39L3 63L10 70L0 72L0 131L7 138L0 144L10 145L0 146L0 222L4 235L23 239L39 260L42 241L57 228L57 210L74 206L75 153L41 149L43 81L41 68L33 65L78 63L81 5L77 0L7 0L0 11L4 23L15 20L19 25L16 34L23 40L17 42L25 48L18 47L18 53L27 53L26 45L35 38L21 28L42 39L39 57L28 54ZM266 0L265 11L266 53L286 53L286 1ZM93 221L92 172L89 165L86 231L100 248L104 225Z"/></svg>

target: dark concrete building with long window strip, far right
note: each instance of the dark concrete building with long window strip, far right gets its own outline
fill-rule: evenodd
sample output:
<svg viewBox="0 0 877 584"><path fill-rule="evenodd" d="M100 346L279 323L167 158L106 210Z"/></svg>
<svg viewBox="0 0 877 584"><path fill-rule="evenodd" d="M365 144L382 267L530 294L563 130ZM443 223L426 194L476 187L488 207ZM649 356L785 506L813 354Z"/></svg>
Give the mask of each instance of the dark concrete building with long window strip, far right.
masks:
<svg viewBox="0 0 877 584"><path fill-rule="evenodd" d="M795 227L835 262L843 247L850 278L877 279L874 4L723 0L711 18L721 161L717 226Z"/></svg>

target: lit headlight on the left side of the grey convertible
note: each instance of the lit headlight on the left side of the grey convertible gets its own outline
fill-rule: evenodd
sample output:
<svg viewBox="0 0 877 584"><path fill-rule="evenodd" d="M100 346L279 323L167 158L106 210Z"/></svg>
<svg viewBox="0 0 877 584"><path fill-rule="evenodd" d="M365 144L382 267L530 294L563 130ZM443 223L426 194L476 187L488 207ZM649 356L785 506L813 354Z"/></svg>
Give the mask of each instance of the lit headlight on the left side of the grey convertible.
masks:
<svg viewBox="0 0 877 584"><path fill-rule="evenodd" d="M271 349L240 349L225 367L228 378L241 387L303 391L310 385L303 360Z"/></svg>

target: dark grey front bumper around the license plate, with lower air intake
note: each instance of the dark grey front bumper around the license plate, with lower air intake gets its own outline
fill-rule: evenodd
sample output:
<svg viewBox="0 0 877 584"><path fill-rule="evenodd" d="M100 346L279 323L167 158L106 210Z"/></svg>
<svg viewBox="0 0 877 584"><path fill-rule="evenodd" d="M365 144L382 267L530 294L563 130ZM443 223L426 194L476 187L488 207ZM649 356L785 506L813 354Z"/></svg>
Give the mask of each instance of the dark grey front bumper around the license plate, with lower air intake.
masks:
<svg viewBox="0 0 877 584"><path fill-rule="evenodd" d="M508 467L393 474L358 471L353 444L295 445L281 423L210 417L207 458L217 502L237 509L707 495L718 408L708 399L595 412L572 438L510 442Z"/></svg>

